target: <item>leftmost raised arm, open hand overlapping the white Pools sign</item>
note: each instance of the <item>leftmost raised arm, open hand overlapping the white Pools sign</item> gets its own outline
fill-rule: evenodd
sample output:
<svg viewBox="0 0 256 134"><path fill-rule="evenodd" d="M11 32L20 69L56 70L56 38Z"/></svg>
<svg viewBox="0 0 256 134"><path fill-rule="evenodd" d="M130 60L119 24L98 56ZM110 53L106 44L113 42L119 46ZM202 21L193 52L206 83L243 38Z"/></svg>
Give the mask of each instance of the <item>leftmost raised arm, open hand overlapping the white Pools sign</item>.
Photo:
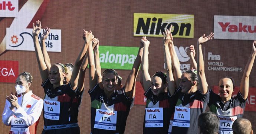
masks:
<svg viewBox="0 0 256 134"><path fill-rule="evenodd" d="M39 40L37 35L40 33L41 30L41 22L39 20L36 21L36 25L33 23L33 41L34 41L34 47L35 47L35 52L36 52L36 59L37 59L37 63L39 66L39 71L40 71L40 75L41 78L43 80L43 83L45 83L45 81L47 80L49 74L48 74L48 70L43 58L43 53L41 51L40 48L40 44L39 44Z"/></svg>

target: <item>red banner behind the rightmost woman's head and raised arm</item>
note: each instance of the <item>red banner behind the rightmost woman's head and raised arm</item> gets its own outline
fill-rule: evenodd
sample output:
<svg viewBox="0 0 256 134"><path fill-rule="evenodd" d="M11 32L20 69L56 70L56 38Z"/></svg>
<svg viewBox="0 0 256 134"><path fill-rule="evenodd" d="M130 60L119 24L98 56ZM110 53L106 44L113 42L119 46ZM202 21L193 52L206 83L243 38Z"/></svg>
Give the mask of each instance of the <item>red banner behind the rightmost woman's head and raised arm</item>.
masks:
<svg viewBox="0 0 256 134"><path fill-rule="evenodd" d="M234 88L232 97L235 97L237 95L239 88L240 87ZM214 86L213 91L214 91L214 93L219 94L219 86ZM256 96L256 87L249 87L249 94L248 94L248 97L246 100L245 111L256 111L255 96Z"/></svg>

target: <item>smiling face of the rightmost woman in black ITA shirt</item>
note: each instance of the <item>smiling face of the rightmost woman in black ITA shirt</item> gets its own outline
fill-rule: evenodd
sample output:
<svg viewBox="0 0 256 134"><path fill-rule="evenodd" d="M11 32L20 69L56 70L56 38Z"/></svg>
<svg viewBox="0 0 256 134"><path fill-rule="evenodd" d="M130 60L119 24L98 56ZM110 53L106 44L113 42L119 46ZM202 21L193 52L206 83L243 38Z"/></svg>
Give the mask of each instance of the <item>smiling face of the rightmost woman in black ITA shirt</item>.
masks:
<svg viewBox="0 0 256 134"><path fill-rule="evenodd" d="M219 81L219 93L221 100L228 101L232 97L233 83L230 78L222 78Z"/></svg>

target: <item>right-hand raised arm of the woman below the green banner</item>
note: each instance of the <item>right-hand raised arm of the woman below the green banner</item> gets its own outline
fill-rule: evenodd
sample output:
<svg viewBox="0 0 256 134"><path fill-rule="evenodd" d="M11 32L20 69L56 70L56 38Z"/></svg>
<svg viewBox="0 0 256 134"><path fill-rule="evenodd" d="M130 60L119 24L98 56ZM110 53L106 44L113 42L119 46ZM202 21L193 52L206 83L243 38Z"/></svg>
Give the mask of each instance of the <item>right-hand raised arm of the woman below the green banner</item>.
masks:
<svg viewBox="0 0 256 134"><path fill-rule="evenodd" d="M142 37L143 38L143 37ZM128 75L128 78L125 82L125 93L127 97L133 98L135 96L135 82L138 75L139 67L141 64L142 54L143 54L144 45L141 43L140 48L137 54L137 57L133 63L132 70Z"/></svg>

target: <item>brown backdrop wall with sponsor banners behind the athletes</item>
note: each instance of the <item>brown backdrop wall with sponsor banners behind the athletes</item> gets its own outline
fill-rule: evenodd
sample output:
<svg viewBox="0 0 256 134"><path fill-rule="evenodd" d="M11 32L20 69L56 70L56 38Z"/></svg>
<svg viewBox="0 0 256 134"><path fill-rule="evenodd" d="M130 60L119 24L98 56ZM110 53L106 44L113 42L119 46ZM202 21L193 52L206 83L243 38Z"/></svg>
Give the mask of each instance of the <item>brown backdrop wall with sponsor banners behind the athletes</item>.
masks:
<svg viewBox="0 0 256 134"><path fill-rule="evenodd" d="M220 78L234 78L237 94L244 67L256 39L255 1L63 1L63 0L0 0L0 113L5 96L15 92L17 75L23 71L32 74L30 89L44 98L42 78L32 40L33 23L40 20L42 29L50 28L46 40L51 63L75 63L85 43L83 29L99 38L102 71L114 68L125 86L138 54L141 37L150 41L148 71L150 76L165 71L163 32L171 24L174 48L181 71L190 69L186 49L203 34L215 33L213 40L202 45L207 83L219 93ZM43 31L41 30L41 35ZM40 37L40 35L39 35ZM195 57L197 59L197 56ZM177 63L174 63L177 64ZM144 90L141 72L135 81L135 100L127 118L124 133L143 133L145 114ZM249 81L244 118L252 122L256 131L256 63ZM78 114L81 133L91 133L91 99L89 70L85 73L83 99ZM46 109L47 110L47 109ZM207 108L208 110L208 108ZM118 119L117 119L118 120ZM147 124L150 125L150 124ZM41 115L37 133L43 130ZM9 133L10 127L0 124L0 133Z"/></svg>

